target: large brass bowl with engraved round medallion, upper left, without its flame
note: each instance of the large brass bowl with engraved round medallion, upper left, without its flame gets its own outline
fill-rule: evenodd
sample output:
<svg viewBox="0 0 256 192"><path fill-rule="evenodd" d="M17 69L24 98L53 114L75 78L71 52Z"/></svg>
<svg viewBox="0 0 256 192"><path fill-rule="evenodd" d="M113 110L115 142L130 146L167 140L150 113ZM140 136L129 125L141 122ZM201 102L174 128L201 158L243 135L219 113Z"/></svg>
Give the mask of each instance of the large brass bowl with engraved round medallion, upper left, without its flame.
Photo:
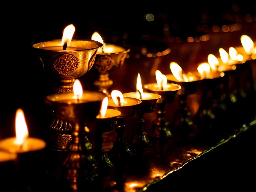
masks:
<svg viewBox="0 0 256 192"><path fill-rule="evenodd" d="M73 80L89 71L94 63L97 49L102 44L93 40L72 40L71 50L59 49L61 40L51 40L33 44L46 71L61 80ZM69 47L68 47L69 48Z"/></svg>

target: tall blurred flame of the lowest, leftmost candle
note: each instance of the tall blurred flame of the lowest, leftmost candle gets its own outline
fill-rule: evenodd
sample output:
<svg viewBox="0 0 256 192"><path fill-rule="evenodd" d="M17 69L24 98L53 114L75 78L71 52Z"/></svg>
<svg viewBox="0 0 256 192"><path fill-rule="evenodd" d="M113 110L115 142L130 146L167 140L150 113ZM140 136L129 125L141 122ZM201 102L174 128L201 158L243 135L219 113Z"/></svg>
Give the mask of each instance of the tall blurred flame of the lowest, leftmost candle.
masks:
<svg viewBox="0 0 256 192"><path fill-rule="evenodd" d="M25 116L22 109L16 111L15 118L15 131L16 131L16 140L17 145L22 145L25 140L28 138L28 127L26 124Z"/></svg>

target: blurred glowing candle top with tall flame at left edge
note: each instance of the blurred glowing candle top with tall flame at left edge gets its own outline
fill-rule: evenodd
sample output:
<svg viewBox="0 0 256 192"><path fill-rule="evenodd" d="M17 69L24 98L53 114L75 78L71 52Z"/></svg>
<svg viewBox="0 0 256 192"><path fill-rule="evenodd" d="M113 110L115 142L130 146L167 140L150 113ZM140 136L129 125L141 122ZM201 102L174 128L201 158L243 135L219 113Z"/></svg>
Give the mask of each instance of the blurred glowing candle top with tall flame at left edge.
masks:
<svg viewBox="0 0 256 192"><path fill-rule="evenodd" d="M15 128L16 137L1 140L0 149L10 153L25 153L45 148L46 143L43 140L28 137L28 128L21 109L16 112Z"/></svg>

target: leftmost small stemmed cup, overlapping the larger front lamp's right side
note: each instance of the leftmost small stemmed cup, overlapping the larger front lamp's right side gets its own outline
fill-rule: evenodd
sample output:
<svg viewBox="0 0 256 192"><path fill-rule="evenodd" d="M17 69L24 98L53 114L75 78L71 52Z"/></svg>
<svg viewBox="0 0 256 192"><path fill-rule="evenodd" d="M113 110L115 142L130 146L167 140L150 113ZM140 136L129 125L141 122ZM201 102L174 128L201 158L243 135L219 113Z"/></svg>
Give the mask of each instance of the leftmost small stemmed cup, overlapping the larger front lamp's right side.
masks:
<svg viewBox="0 0 256 192"><path fill-rule="evenodd" d="M117 116L121 115L120 111L114 109L107 109L105 117L97 116L97 131L95 136L95 158L101 168L101 170L106 170L113 167L108 154L102 149L103 143L103 132L112 131L116 125Z"/></svg>

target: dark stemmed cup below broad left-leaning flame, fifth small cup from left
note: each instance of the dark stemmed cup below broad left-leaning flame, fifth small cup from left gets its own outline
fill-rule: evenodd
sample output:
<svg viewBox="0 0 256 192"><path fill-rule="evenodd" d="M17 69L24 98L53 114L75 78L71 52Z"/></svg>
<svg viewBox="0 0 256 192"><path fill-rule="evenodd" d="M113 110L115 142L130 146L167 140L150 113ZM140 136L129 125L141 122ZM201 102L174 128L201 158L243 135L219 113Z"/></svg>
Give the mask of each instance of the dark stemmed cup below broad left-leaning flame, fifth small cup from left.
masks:
<svg viewBox="0 0 256 192"><path fill-rule="evenodd" d="M175 112L172 129L173 132L179 136L187 136L194 128L193 121L191 120L191 112L187 108L187 96L196 92L198 82L201 80L199 77L193 77L193 81L178 81L173 74L166 75L168 82L179 83L181 89L178 91L180 106Z"/></svg>

